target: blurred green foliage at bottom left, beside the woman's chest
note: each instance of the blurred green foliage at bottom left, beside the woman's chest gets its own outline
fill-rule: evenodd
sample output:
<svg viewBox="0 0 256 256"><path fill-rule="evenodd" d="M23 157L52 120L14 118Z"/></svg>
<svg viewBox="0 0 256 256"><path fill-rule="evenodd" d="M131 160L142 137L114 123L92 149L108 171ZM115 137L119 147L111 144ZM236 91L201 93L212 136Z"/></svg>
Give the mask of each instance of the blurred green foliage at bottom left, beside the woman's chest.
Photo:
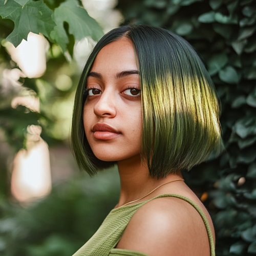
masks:
<svg viewBox="0 0 256 256"><path fill-rule="evenodd" d="M97 230L118 200L116 169L56 185L29 207L0 201L0 255L70 256Z"/></svg>

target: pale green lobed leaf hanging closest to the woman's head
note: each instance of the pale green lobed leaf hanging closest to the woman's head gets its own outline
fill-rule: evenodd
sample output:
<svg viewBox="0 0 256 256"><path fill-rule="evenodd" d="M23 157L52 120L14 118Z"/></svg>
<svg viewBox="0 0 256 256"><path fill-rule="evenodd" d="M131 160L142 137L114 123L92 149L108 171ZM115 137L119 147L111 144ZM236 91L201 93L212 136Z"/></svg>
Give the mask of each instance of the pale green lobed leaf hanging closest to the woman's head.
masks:
<svg viewBox="0 0 256 256"><path fill-rule="evenodd" d="M102 29L95 19L90 17L85 9L79 6L76 0L67 0L55 9L53 19L57 26L51 33L51 38L60 45L62 51L66 51L69 42L64 23L69 25L69 33L76 40L90 36L97 41L103 36Z"/></svg>

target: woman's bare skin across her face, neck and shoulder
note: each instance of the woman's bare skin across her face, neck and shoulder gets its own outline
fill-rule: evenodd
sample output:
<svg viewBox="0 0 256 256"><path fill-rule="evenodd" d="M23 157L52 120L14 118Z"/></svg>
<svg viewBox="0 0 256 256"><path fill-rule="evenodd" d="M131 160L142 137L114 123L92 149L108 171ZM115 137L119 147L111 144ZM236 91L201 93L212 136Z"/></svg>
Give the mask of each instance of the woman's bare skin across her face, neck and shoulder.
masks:
<svg viewBox="0 0 256 256"><path fill-rule="evenodd" d="M179 170L166 178L153 179L141 162L142 114L137 72L132 42L122 37L100 50L86 84L84 130L97 158L117 161L121 191L116 207L145 196L160 184L182 179ZM214 233L207 210L183 181L165 184L138 202L162 194L179 194L194 201L204 211ZM139 208L116 248L152 256L210 255L200 215L187 202L172 197L155 199Z"/></svg>

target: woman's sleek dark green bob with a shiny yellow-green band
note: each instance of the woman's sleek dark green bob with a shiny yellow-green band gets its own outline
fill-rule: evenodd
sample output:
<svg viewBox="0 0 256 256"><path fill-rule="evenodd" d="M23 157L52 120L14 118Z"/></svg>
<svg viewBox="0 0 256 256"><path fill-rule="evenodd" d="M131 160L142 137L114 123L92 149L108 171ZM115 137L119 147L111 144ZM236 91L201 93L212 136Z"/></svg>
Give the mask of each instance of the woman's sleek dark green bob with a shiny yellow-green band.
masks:
<svg viewBox="0 0 256 256"><path fill-rule="evenodd" d="M223 149L214 84L196 51L180 36L145 25L111 30L97 43L82 71L75 95L71 148L91 176L115 162L97 159L83 128L87 75L98 52L121 37L130 39L141 85L142 150L149 174L162 178L207 160Z"/></svg>

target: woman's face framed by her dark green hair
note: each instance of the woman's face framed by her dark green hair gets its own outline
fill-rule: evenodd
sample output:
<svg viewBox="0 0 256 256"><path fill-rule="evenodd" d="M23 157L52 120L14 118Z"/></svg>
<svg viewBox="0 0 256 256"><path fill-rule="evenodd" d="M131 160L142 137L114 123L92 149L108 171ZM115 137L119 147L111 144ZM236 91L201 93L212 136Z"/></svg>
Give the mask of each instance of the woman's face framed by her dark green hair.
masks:
<svg viewBox="0 0 256 256"><path fill-rule="evenodd" d="M142 135L140 79L129 39L122 37L99 51L86 88L83 125L95 156L103 161L138 157Z"/></svg>

